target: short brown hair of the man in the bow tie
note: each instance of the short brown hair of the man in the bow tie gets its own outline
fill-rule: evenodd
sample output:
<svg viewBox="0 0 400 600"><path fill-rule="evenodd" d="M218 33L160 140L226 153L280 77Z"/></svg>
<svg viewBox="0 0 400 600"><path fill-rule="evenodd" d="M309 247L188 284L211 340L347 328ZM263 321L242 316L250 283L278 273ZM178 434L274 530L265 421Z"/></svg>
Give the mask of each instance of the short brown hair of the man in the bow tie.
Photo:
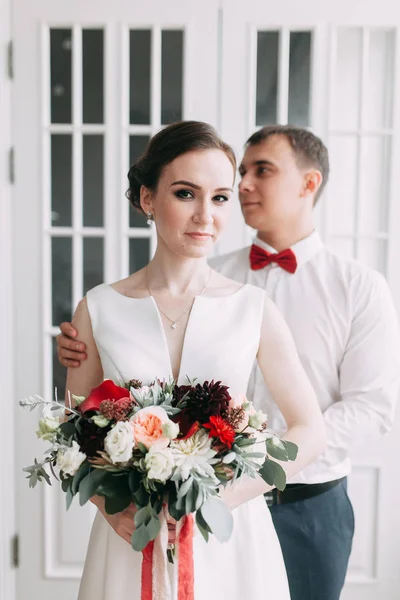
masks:
<svg viewBox="0 0 400 600"><path fill-rule="evenodd" d="M246 146L261 144L273 135L283 135L290 143L299 167L315 167L322 175L322 183L315 195L314 204L321 196L329 178L328 149L319 137L293 125L267 125L249 137Z"/></svg>

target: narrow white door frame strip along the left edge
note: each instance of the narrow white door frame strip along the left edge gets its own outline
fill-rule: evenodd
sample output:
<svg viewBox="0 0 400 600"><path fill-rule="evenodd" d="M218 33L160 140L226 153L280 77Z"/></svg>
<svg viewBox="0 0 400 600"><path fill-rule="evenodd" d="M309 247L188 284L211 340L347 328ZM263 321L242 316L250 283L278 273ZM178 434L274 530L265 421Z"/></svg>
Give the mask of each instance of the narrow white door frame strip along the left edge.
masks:
<svg viewBox="0 0 400 600"><path fill-rule="evenodd" d="M0 0L0 381L2 406L7 426L0 436L0 456L4 461L0 479L0 598L14 600L16 570L12 564L15 535L15 431L13 356L13 268L12 268L12 184L9 180L9 152L12 147L11 80L8 73L8 44L11 41L11 0Z"/></svg>

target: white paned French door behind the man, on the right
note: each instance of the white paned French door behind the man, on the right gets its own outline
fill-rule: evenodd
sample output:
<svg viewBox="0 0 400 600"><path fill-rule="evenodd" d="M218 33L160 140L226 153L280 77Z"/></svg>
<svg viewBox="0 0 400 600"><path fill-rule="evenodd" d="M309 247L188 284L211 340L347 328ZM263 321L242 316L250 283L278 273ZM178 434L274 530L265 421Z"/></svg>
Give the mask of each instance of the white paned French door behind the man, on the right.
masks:
<svg viewBox="0 0 400 600"><path fill-rule="evenodd" d="M222 39L222 136L240 148L275 122L320 135L332 172L319 229L335 251L388 278L400 313L398 8L389 0L229 0ZM233 230L222 250L250 239L239 209ZM399 597L399 433L397 419L389 436L354 456L356 534L343 600Z"/></svg>

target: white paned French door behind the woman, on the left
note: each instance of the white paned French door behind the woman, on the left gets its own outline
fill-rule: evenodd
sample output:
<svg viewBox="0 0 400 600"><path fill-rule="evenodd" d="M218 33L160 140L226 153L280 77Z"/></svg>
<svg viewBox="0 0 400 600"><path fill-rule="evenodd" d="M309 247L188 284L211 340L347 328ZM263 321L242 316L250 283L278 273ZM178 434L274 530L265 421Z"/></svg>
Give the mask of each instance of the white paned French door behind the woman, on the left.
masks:
<svg viewBox="0 0 400 600"><path fill-rule="evenodd" d="M126 173L162 125L215 124L217 31L211 0L13 3L17 397L63 396L59 322L87 289L149 260ZM72 600L93 513L28 489L20 469L42 445L37 415L18 417L18 598Z"/></svg>

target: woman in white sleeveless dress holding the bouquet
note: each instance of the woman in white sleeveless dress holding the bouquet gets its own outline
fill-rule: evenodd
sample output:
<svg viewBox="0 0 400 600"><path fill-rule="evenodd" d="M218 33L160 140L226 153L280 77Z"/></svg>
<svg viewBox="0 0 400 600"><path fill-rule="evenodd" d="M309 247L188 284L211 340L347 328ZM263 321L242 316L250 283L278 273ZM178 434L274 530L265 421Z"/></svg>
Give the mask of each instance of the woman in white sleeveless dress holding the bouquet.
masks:
<svg viewBox="0 0 400 600"><path fill-rule="evenodd" d="M141 271L90 290L73 326L87 360L69 369L67 389L87 395L104 378L144 384L155 377L221 380L246 392L258 361L287 424L284 436L299 447L284 463L290 479L325 445L324 423L288 328L265 292L223 277L207 256L231 210L236 171L232 149L205 123L170 125L155 135L129 171L128 197L154 222L157 250ZM263 498L261 479L242 477L222 492L232 510L230 540L194 538L195 600L289 600L279 542ZM115 515L104 500L90 537L79 600L139 600L142 555L132 550L135 506ZM175 526L169 525L174 542ZM170 566L176 594L176 566ZM160 599L161 600L161 599Z"/></svg>

